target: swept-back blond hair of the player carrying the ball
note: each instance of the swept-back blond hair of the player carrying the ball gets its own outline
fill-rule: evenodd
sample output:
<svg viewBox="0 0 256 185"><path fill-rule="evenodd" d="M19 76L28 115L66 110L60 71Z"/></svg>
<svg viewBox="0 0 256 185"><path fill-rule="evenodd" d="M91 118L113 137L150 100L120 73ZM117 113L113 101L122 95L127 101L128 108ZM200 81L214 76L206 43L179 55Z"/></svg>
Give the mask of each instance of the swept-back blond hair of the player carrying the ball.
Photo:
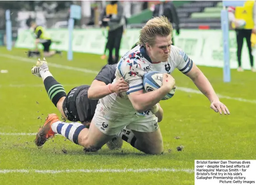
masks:
<svg viewBox="0 0 256 185"><path fill-rule="evenodd" d="M172 36L172 23L165 16L154 17L147 21L139 33L139 45L145 46L146 43L154 45L155 36Z"/></svg>

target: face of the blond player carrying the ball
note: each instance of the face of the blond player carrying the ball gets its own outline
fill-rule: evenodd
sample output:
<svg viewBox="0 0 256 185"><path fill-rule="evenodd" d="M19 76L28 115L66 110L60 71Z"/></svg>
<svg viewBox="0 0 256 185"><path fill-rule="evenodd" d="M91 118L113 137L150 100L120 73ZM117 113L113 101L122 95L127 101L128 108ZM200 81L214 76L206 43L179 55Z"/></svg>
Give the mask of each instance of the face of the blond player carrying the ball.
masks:
<svg viewBox="0 0 256 185"><path fill-rule="evenodd" d="M152 62L166 62L171 52L172 37L156 36L155 44L147 49L150 52Z"/></svg>

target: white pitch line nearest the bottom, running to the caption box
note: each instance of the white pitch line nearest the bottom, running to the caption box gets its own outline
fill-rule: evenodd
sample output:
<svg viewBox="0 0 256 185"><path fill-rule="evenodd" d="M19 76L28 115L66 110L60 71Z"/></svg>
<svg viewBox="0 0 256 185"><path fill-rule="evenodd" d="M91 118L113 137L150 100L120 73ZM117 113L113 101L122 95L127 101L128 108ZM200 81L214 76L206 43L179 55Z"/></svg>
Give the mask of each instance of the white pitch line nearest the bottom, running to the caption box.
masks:
<svg viewBox="0 0 256 185"><path fill-rule="evenodd" d="M193 173L194 169L65 169L65 170L38 170L38 169L0 169L0 173L147 173L147 172L186 172Z"/></svg>

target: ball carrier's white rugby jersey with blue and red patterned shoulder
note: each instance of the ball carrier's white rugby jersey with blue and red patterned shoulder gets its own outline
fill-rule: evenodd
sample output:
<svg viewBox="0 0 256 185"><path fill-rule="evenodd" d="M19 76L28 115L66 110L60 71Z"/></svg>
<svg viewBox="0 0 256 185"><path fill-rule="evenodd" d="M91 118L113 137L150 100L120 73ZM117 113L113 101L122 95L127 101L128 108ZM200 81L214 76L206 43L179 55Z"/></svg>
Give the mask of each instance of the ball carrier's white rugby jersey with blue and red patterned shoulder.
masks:
<svg viewBox="0 0 256 185"><path fill-rule="evenodd" d="M170 56L167 62L151 62L144 47L136 46L127 52L118 62L116 78L113 83L123 77L129 83L129 90L118 95L113 93L101 99L104 107L113 113L132 115L134 110L129 98L132 92L143 90L143 76L149 71L159 71L171 74L177 68L182 73L188 73L193 66L193 61L176 46L171 46Z"/></svg>

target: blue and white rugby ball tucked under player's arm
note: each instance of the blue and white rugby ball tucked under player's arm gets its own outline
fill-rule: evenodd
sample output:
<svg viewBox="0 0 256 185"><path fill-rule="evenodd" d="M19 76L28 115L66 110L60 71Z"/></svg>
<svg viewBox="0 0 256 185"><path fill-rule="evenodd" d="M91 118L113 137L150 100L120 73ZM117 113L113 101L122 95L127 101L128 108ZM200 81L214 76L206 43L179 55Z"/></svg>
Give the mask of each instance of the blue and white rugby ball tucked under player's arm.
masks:
<svg viewBox="0 0 256 185"><path fill-rule="evenodd" d="M157 71L151 71L144 75L143 77L143 86L146 92L159 89L162 85L163 73ZM167 95L164 96L162 100L167 100L172 98L175 93L175 88L173 88Z"/></svg>

